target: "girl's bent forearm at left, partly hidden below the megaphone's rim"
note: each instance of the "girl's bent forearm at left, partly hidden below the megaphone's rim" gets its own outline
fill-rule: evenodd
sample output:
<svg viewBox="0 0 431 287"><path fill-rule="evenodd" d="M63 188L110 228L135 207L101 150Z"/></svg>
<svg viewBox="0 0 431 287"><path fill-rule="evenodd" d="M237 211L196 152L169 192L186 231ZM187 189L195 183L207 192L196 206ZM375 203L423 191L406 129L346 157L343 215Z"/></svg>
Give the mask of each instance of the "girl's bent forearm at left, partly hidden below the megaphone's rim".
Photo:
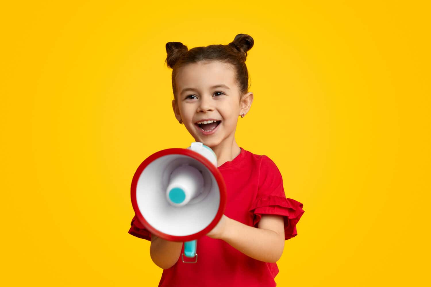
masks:
<svg viewBox="0 0 431 287"><path fill-rule="evenodd" d="M150 256L163 269L169 269L178 261L183 242L167 241L151 233Z"/></svg>

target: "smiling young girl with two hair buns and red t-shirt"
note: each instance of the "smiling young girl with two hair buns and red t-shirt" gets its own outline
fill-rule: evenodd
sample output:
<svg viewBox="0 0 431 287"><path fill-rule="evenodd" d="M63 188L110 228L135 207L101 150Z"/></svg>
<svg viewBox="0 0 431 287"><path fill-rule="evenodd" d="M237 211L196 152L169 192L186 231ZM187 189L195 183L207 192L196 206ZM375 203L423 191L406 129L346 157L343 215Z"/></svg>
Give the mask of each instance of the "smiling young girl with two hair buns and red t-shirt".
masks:
<svg viewBox="0 0 431 287"><path fill-rule="evenodd" d="M276 286L275 262L284 241L297 235L303 204L286 198L281 173L269 157L235 140L238 116L243 118L253 102L244 63L253 43L246 34L228 45L191 50L166 43L175 117L196 142L215 152L227 203L219 223L199 238L195 264L182 262L183 242L156 237L134 216L128 232L151 241L151 259L164 269L159 287Z"/></svg>

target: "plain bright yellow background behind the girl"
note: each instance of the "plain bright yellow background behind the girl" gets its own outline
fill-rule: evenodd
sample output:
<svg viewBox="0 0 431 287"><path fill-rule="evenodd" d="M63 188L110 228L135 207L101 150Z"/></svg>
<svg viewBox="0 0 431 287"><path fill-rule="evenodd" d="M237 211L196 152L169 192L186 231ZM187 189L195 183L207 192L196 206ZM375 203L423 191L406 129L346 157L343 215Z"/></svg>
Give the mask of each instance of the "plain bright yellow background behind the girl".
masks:
<svg viewBox="0 0 431 287"><path fill-rule="evenodd" d="M254 102L237 142L305 210L278 286L430 284L428 7L156 2L2 5L4 286L157 286L150 242L127 231L139 164L193 141L165 44L239 33Z"/></svg>

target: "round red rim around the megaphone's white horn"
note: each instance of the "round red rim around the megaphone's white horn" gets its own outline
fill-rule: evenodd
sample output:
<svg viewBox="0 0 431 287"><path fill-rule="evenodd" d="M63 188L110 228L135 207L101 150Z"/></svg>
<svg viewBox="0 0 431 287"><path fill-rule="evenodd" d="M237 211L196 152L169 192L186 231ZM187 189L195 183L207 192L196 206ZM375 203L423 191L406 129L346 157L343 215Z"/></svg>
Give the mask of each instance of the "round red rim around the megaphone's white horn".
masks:
<svg viewBox="0 0 431 287"><path fill-rule="evenodd" d="M192 157L196 160L199 160L214 176L215 180L217 181L217 184L219 185L220 190L220 204L219 204L219 210L217 211L217 214L215 215L212 222L203 230L191 234L191 235L185 235L185 236L175 236L175 235L169 235L166 233L163 233L159 231L158 229L154 228L150 223L145 220L144 216L142 216L141 211L139 210L137 206L137 200L136 200L136 187L137 187L137 181L139 177L141 176L142 172L145 170L145 168L154 160L158 159L159 157L163 157L165 155L169 154L182 154L187 155L189 157ZM206 157L204 157L202 154L197 153L196 151L192 151L187 148L167 148L161 151L157 151L154 154L151 154L149 157L147 157L137 168L136 172L134 173L132 184L131 184L131 201L132 206L134 209L134 212L136 214L137 219L144 225L148 231L155 234L157 237L169 240L169 241L192 241L195 239L198 239L204 235L206 235L209 231L212 230L212 228L217 225L217 223L222 218L223 214L225 213L225 207L226 207L226 184L225 180L223 179L222 174L218 170L217 167L214 166Z"/></svg>

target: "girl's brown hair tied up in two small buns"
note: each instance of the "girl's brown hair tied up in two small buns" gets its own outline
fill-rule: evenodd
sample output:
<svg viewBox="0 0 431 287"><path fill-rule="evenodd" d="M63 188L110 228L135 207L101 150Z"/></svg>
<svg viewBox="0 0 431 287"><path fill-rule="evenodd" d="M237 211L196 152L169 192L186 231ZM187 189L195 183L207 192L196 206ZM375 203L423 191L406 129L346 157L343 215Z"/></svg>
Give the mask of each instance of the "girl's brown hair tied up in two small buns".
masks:
<svg viewBox="0 0 431 287"><path fill-rule="evenodd" d="M174 99L176 96L175 77L181 66L199 61L220 61L231 64L234 67L235 77L240 97L248 92L248 71L245 65L247 51L253 47L254 40L250 35L237 34L234 40L228 45L209 45L206 47L195 47L187 49L181 42L166 43L168 53L166 61L168 67L172 68L172 91Z"/></svg>

